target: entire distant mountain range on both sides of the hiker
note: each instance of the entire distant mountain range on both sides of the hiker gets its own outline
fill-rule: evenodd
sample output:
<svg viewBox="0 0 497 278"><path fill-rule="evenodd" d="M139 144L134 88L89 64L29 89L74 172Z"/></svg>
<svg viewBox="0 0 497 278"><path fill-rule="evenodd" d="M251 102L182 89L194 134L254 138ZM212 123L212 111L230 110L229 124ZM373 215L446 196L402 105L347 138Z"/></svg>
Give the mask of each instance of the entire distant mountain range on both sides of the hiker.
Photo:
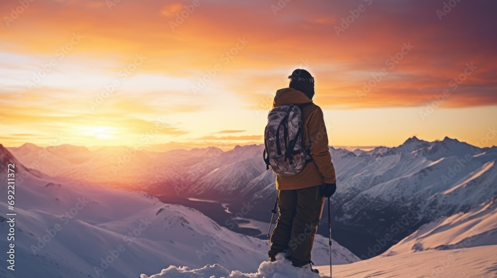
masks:
<svg viewBox="0 0 497 278"><path fill-rule="evenodd" d="M34 169L52 176L153 195L225 201L234 210L242 201L250 201L263 206L248 216L266 221L267 208L276 195L275 176L265 170L262 160L262 144L229 151L215 147L89 151L33 144L8 150L25 165L44 155L44 162ZM330 147L330 152L337 173L331 204L334 239L362 258L383 253L423 224L480 206L497 195L495 146L479 148L457 139L428 142L413 137L397 147L369 151ZM380 239L385 244L370 252Z"/></svg>

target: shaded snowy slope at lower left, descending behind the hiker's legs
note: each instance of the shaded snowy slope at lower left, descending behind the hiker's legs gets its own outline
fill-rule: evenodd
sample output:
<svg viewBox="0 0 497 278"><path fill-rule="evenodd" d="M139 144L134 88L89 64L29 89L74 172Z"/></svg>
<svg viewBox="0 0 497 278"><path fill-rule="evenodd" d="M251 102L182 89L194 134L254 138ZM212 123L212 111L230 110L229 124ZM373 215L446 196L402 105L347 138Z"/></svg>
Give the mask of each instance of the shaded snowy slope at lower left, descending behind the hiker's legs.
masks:
<svg viewBox="0 0 497 278"><path fill-rule="evenodd" d="M15 163L16 272L6 278L136 278L168 265L199 268L219 263L230 270L256 271L267 260L268 242L219 226L196 209L159 202L145 193L87 181L51 177L25 168L0 145L0 181ZM2 196L6 187L1 187ZM7 210L6 198L0 208ZM7 219L0 216L6 231ZM0 239L2 246L6 237ZM328 240L317 237L313 260L328 261ZM337 263L358 260L334 243Z"/></svg>

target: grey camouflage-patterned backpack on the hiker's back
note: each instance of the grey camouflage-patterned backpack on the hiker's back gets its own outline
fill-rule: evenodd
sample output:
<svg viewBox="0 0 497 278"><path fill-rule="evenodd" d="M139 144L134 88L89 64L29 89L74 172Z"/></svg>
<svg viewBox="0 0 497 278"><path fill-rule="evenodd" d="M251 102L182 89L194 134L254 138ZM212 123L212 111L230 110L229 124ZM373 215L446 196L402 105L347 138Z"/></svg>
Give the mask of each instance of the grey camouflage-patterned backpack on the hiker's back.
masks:
<svg viewBox="0 0 497 278"><path fill-rule="evenodd" d="M302 110L311 104L281 105L269 111L262 154L266 170L289 177L302 171L312 161L310 151L304 148L302 121Z"/></svg>

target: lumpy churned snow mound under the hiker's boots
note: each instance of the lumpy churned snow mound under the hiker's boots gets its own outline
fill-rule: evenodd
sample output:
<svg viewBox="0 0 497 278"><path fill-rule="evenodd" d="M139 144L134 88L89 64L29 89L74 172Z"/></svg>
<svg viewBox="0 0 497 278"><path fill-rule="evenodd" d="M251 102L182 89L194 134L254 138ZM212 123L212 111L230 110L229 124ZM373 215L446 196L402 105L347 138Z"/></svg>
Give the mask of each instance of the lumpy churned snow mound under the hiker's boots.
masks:
<svg viewBox="0 0 497 278"><path fill-rule="evenodd" d="M205 266L201 269L192 270L185 267L170 266L162 270L160 274L141 278L319 278L318 274L311 272L310 267L296 268L286 260L282 254L276 256L275 262L263 262L260 264L257 273L241 273L239 271L230 272L220 265Z"/></svg>

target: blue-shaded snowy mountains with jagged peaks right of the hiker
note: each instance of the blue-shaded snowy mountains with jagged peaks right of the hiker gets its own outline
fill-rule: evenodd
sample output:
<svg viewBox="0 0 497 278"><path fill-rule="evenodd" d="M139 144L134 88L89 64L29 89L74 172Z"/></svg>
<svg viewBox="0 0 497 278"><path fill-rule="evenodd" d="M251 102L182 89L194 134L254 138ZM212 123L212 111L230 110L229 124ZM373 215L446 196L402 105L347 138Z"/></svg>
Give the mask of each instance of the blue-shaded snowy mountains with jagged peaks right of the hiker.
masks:
<svg viewBox="0 0 497 278"><path fill-rule="evenodd" d="M414 137L398 147L380 147L358 156L342 149L331 149L331 154L338 180L332 198L335 220L349 228L367 229L371 245L390 234L385 249L376 254L422 224L497 195L497 147Z"/></svg>

